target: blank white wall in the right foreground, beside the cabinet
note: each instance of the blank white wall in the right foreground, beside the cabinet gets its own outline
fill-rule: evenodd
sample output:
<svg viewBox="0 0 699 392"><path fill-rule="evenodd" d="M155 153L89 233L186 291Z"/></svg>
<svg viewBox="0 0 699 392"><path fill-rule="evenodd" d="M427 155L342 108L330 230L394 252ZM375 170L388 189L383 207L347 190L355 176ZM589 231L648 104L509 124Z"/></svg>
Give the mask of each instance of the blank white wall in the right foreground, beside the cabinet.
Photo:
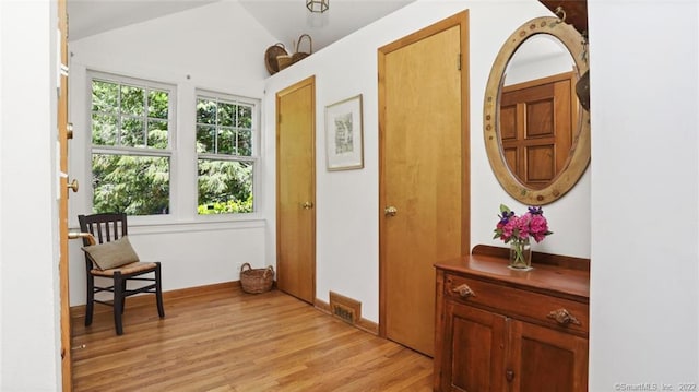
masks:
<svg viewBox="0 0 699 392"><path fill-rule="evenodd" d="M590 1L588 8L590 391L623 391L615 388L624 383L696 388L699 3Z"/></svg>

